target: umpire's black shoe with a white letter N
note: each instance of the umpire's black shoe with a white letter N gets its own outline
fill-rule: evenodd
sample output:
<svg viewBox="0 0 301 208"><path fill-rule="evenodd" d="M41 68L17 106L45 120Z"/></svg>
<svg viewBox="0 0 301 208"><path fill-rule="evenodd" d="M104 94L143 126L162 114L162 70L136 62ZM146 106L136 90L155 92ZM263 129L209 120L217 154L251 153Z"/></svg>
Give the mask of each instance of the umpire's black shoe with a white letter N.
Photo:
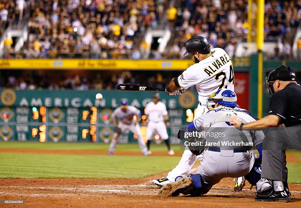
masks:
<svg viewBox="0 0 301 208"><path fill-rule="evenodd" d="M281 201L289 202L290 191L286 182L272 181L272 187L267 187L263 191L257 191L255 194L256 201Z"/></svg>

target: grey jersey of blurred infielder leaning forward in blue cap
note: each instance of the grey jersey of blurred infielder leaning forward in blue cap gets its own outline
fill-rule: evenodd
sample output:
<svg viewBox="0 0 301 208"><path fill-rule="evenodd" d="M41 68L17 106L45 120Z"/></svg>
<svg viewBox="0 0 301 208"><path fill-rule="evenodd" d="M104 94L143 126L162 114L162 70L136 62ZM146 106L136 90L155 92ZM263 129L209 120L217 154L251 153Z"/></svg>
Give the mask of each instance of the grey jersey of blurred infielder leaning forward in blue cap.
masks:
<svg viewBox="0 0 301 208"><path fill-rule="evenodd" d="M135 123L134 115L141 115L141 112L138 108L134 106L128 106L127 111L124 112L121 110L121 107L118 107L112 113L112 119L118 119L120 122L130 125Z"/></svg>

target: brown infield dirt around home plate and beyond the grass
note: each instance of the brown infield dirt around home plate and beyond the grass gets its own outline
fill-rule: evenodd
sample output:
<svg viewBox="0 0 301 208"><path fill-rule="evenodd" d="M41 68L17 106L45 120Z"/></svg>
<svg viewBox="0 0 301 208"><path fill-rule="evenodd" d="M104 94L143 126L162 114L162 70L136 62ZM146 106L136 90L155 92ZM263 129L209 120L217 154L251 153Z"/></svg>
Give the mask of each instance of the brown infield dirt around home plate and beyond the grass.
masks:
<svg viewBox="0 0 301 208"><path fill-rule="evenodd" d="M1 152L38 153L39 150L9 150ZM83 151L96 154L96 151ZM97 151L98 154L101 152ZM79 151L45 151L48 154L80 154ZM136 154L140 152L136 152ZM104 153L102 153L104 154ZM106 154L106 153L105 153ZM132 152L116 152L132 154ZM167 153L166 153L167 154ZM166 155L160 153L158 155ZM289 158L291 155L289 155ZM298 158L291 159L299 163ZM194 166L196 170L197 164ZM222 179L203 197L159 197L159 188L152 179L167 172L143 179L0 179L0 199L25 200L22 207L301 207L301 185L290 184L292 202L256 202L255 188L250 184L234 192L231 178ZM1 205L14 207L16 205ZM20 205L17 205L20 206Z"/></svg>

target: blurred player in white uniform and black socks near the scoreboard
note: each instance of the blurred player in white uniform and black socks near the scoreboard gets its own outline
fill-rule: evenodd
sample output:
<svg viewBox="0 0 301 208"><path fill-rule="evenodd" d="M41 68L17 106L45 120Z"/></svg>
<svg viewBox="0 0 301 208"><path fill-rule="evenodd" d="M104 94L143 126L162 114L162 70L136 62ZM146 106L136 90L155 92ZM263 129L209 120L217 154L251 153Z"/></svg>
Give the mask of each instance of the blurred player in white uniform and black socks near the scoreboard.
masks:
<svg viewBox="0 0 301 208"><path fill-rule="evenodd" d="M168 154L174 155L174 151L170 148L166 126L169 126L169 117L166 110L166 105L160 101L160 94L156 93L153 96L153 101L149 102L144 110L144 114L148 118L146 138L148 154L151 154L150 145L153 138L153 133L157 130L160 138L162 138L168 148ZM166 122L166 125L164 123Z"/></svg>

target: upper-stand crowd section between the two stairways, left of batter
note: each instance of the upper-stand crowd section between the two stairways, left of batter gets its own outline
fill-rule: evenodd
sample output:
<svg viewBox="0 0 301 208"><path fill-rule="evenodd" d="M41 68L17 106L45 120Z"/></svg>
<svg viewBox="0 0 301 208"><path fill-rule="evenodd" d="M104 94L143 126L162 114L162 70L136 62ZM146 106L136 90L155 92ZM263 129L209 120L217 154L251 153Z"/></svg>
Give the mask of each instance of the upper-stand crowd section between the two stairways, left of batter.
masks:
<svg viewBox="0 0 301 208"><path fill-rule="evenodd" d="M16 58L132 58L141 31L162 19L168 1L29 2L29 38L23 51L11 51Z"/></svg>

